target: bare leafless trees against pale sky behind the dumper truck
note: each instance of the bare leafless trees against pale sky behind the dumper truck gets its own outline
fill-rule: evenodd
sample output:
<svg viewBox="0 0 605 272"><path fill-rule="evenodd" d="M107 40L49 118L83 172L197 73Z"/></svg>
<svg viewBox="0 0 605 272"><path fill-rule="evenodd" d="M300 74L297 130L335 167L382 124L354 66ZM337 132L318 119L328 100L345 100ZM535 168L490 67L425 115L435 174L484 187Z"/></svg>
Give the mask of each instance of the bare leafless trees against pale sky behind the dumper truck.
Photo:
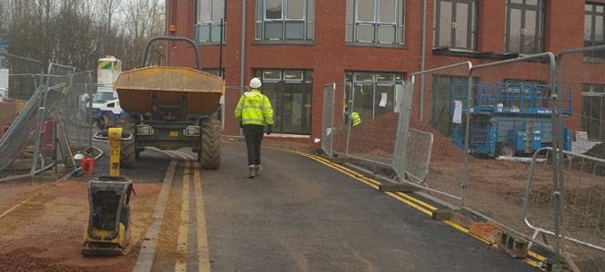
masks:
<svg viewBox="0 0 605 272"><path fill-rule="evenodd" d="M98 58L111 54L130 69L140 63L146 41L163 33L163 5L156 0L2 0L0 33L8 34L10 53L45 63L95 69ZM159 47L152 47L152 64L163 58Z"/></svg>

